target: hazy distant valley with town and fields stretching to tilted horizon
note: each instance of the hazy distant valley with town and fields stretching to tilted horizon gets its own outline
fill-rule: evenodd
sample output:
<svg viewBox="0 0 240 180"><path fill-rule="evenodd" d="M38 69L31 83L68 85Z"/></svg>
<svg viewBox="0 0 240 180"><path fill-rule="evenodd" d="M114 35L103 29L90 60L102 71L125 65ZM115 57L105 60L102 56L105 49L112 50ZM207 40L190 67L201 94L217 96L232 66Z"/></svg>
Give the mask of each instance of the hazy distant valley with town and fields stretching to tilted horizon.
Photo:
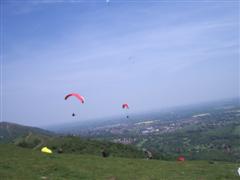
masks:
<svg viewBox="0 0 240 180"><path fill-rule="evenodd" d="M68 133L134 145L159 159L184 155L188 159L240 160L239 99L169 109L145 119L135 117L97 127L79 125Z"/></svg>

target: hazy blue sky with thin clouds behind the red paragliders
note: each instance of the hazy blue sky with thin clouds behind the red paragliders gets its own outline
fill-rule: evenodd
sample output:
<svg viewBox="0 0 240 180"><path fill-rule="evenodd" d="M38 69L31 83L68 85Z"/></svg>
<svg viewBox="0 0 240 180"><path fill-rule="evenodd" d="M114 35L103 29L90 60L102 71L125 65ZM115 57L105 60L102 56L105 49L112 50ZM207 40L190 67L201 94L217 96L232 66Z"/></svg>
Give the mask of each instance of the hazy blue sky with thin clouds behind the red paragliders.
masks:
<svg viewBox="0 0 240 180"><path fill-rule="evenodd" d="M45 126L239 97L239 2L1 0L1 121ZM85 104L68 93L79 93ZM72 117L75 113L77 116Z"/></svg>

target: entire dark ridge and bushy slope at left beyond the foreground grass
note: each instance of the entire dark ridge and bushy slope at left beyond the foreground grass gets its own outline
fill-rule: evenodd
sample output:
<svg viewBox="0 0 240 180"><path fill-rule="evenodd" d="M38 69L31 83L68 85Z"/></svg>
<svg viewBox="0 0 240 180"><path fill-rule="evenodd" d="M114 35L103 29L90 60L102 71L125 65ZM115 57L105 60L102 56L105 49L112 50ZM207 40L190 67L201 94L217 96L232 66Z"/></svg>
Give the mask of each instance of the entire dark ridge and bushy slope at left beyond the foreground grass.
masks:
<svg viewBox="0 0 240 180"><path fill-rule="evenodd" d="M35 150L40 150L42 147L48 146L54 152L61 149L64 154L92 154L101 156L101 151L104 149L109 156L144 157L142 151L130 145L83 139L74 136L60 136L43 129L7 122L0 123L0 135L2 135L1 143L13 142L19 147Z"/></svg>

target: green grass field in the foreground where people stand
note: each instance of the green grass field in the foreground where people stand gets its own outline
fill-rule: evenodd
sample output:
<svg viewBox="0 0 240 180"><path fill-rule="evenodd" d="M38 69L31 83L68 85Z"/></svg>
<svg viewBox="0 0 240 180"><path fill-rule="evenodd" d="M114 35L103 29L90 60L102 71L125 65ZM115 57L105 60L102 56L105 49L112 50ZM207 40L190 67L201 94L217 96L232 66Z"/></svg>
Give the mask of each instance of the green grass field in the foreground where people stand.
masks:
<svg viewBox="0 0 240 180"><path fill-rule="evenodd" d="M239 164L207 161L159 161L102 158L79 154L42 154L14 145L0 145L0 179L239 179Z"/></svg>

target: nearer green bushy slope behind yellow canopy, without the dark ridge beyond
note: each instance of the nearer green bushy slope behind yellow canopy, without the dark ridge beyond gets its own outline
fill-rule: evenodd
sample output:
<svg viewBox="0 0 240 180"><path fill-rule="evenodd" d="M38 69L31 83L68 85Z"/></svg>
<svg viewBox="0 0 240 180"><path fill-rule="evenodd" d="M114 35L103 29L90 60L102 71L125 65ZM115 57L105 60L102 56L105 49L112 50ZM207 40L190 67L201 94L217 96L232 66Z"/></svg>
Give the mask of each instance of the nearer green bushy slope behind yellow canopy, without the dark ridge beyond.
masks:
<svg viewBox="0 0 240 180"><path fill-rule="evenodd" d="M56 153L61 149L64 154L91 154L101 156L101 151L104 149L108 156L129 158L144 157L142 151L131 145L83 139L74 136L48 137L39 134L31 134L23 138L17 138L15 144L20 147L35 150L40 150L42 147L47 146Z"/></svg>

